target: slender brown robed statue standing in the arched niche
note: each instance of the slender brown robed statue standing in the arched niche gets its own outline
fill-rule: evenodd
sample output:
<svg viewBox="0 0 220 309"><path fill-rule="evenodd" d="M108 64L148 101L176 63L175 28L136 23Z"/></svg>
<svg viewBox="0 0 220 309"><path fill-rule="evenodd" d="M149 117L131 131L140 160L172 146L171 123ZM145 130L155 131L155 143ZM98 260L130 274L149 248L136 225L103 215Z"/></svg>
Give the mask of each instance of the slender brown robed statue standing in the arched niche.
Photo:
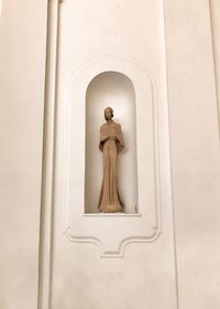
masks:
<svg viewBox="0 0 220 309"><path fill-rule="evenodd" d="M112 120L113 109L105 109L107 122L100 127L99 149L103 152L103 180L99 198L100 212L122 212L118 188L118 153L123 149L121 126Z"/></svg>

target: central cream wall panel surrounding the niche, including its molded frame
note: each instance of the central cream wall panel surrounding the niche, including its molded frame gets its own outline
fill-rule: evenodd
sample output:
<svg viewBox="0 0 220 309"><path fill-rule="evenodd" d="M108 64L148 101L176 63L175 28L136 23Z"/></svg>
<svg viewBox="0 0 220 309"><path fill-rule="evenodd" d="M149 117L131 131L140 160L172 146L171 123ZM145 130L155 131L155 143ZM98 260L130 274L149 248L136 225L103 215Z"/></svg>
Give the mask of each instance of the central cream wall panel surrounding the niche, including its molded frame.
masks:
<svg viewBox="0 0 220 309"><path fill-rule="evenodd" d="M163 2L72 0L62 2L54 20L56 15L51 307L160 309L163 299L164 308L176 309ZM107 71L125 74L135 89L140 214L134 216L82 213L86 88ZM128 119L120 109L128 107L113 108L124 132ZM96 111L96 121L103 121L103 106ZM98 136L99 127L92 128ZM134 145L128 140L125 147L129 152ZM124 192L130 196L129 190Z"/></svg>

